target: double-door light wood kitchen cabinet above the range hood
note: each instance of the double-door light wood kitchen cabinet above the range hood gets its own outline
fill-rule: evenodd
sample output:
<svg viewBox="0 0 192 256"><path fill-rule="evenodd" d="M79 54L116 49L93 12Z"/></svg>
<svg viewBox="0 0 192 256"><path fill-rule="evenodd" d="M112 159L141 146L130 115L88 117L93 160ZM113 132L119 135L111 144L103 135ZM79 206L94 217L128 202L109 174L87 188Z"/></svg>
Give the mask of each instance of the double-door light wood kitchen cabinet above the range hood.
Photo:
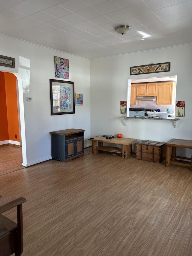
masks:
<svg viewBox="0 0 192 256"><path fill-rule="evenodd" d="M136 96L157 96L157 83L137 84Z"/></svg>

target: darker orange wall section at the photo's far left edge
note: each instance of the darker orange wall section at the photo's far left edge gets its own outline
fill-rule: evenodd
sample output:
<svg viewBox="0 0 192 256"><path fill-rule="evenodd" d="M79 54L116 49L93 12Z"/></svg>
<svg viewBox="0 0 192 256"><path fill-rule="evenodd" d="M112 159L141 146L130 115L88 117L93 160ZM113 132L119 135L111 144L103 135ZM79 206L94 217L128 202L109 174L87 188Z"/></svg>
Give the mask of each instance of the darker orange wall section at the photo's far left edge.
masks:
<svg viewBox="0 0 192 256"><path fill-rule="evenodd" d="M8 121L4 72L0 72L0 141L8 140Z"/></svg>

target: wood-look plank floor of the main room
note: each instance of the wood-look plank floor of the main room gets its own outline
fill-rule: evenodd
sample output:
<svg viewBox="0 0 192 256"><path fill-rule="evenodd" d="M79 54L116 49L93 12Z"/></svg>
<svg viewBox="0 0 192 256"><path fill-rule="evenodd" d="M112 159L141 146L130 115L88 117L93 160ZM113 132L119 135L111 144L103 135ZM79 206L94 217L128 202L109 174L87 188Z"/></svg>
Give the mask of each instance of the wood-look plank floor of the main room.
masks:
<svg viewBox="0 0 192 256"><path fill-rule="evenodd" d="M0 194L27 198L23 256L192 255L188 167L90 153L0 176Z"/></svg>

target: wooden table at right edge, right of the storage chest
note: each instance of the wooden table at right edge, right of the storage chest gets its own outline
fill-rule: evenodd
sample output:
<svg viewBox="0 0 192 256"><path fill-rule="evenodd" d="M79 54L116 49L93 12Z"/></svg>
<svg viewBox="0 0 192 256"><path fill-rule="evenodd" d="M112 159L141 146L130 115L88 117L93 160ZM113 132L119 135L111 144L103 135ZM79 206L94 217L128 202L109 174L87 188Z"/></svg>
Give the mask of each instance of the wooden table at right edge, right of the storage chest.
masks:
<svg viewBox="0 0 192 256"><path fill-rule="evenodd" d="M166 146L166 156L165 156L166 167L168 167L170 163L178 164L178 165L189 166L190 170L192 171L192 156L191 158L176 156L177 147L192 149L192 140L171 139L165 143L165 146ZM171 147L172 147L172 154L171 154ZM187 161L184 161L184 163L177 162L176 158L191 160L191 162L187 162Z"/></svg>

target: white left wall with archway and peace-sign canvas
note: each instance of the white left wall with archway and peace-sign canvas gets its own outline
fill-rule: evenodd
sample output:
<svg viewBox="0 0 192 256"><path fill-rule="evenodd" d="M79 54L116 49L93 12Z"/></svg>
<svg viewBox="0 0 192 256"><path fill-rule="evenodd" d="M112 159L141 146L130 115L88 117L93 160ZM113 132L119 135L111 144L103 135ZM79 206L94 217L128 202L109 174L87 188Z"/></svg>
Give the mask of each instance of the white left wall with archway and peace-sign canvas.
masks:
<svg viewBox="0 0 192 256"><path fill-rule="evenodd" d="M24 123L21 120L21 130L25 132L22 133L22 148L26 150L24 166L51 159L50 131L85 129L85 138L90 137L89 60L1 35L0 48L1 55L15 58L14 69L0 66L0 70L16 72L22 78L23 102L19 100L19 104L21 114L24 107ZM75 93L83 93L83 106L75 106L75 114L51 116L49 79L56 79L54 56L69 59L67 81L74 82ZM27 97L32 97L32 101L27 101Z"/></svg>

